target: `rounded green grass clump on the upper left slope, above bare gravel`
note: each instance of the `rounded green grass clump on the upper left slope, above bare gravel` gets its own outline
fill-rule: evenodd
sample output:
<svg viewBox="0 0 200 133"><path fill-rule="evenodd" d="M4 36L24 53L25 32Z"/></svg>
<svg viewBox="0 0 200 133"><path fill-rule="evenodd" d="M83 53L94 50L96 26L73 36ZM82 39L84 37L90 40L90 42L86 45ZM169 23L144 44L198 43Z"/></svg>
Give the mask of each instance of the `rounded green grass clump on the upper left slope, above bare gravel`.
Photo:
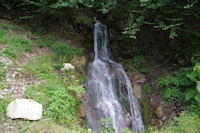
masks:
<svg viewBox="0 0 200 133"><path fill-rule="evenodd" d="M19 59L24 51L32 52L33 48L34 46L30 39L21 36L13 36L9 40L9 45L6 47L4 53L8 57Z"/></svg>

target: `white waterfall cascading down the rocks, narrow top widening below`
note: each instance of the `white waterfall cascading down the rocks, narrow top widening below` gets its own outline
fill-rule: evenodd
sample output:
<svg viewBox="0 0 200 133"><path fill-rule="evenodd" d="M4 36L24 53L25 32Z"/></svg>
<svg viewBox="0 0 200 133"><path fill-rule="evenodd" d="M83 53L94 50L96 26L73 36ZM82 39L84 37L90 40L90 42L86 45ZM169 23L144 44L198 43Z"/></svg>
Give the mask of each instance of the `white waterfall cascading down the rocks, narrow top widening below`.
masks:
<svg viewBox="0 0 200 133"><path fill-rule="evenodd" d="M144 132L138 102L133 96L131 82L123 67L109 59L107 48L108 33L105 25L96 20L94 29L94 61L88 68L87 92L85 100L89 126L97 132L101 129L101 118L112 118L116 133L127 127L125 109L121 104L123 92L127 92L130 104L131 124L136 133ZM125 89L125 90L124 90Z"/></svg>

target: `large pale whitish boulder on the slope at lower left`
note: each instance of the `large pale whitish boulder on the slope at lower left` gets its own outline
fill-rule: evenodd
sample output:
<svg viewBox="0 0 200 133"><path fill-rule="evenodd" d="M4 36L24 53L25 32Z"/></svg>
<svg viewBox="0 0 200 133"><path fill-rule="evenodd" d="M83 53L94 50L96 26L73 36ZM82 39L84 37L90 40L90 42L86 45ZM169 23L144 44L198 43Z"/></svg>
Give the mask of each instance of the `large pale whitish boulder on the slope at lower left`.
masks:
<svg viewBox="0 0 200 133"><path fill-rule="evenodd" d="M42 119L42 105L31 99L16 99L8 104L6 115L11 119Z"/></svg>

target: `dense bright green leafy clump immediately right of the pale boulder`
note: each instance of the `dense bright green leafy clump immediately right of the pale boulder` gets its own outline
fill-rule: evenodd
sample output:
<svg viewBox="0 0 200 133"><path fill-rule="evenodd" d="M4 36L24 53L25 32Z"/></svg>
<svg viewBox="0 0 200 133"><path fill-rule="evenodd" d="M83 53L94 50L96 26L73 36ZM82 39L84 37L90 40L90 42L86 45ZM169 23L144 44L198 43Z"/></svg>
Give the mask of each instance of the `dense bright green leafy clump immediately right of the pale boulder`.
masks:
<svg viewBox="0 0 200 133"><path fill-rule="evenodd" d="M67 93L66 88L59 88L50 94L49 115L58 123L69 124L69 121L74 121L79 102Z"/></svg>

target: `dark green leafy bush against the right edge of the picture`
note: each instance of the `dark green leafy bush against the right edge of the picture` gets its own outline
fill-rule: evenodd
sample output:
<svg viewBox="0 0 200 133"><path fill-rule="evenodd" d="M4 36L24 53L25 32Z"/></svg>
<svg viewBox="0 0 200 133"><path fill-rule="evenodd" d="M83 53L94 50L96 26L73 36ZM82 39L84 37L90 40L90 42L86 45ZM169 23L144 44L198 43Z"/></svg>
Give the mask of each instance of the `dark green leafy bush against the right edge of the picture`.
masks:
<svg viewBox="0 0 200 133"><path fill-rule="evenodd" d="M194 59L194 58L192 58ZM200 63L193 61L193 67L184 68L175 75L159 78L157 86L165 88L164 98L169 102L183 100L190 104L190 109L199 114L200 111Z"/></svg>

